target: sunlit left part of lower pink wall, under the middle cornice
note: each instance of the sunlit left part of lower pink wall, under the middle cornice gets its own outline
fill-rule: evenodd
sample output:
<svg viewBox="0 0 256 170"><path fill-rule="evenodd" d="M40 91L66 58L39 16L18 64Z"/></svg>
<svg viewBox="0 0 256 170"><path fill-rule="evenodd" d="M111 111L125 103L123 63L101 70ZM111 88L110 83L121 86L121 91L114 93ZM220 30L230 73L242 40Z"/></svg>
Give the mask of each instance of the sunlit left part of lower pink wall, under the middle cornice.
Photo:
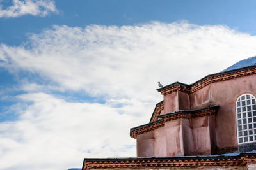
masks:
<svg viewBox="0 0 256 170"><path fill-rule="evenodd" d="M184 155L182 120L166 122L164 127L137 136L138 157Z"/></svg>

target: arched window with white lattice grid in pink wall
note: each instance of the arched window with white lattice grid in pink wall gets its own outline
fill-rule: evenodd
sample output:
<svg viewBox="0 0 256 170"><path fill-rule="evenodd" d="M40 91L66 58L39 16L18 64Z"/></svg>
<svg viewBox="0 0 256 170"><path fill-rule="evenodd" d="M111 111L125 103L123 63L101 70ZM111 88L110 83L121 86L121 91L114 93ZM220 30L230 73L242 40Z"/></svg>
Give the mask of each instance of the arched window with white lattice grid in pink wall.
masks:
<svg viewBox="0 0 256 170"><path fill-rule="evenodd" d="M238 144L256 141L256 102L252 94L242 94L236 101Z"/></svg>

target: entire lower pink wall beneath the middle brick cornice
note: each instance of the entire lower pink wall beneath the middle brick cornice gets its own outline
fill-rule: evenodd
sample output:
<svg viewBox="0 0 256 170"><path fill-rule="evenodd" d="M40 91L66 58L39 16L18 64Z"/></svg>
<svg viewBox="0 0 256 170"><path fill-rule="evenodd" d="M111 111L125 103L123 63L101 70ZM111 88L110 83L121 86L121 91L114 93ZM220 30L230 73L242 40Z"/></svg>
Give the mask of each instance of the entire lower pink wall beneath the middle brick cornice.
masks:
<svg viewBox="0 0 256 170"><path fill-rule="evenodd" d="M211 116L172 120L164 127L138 135L138 157L211 154L209 118Z"/></svg>

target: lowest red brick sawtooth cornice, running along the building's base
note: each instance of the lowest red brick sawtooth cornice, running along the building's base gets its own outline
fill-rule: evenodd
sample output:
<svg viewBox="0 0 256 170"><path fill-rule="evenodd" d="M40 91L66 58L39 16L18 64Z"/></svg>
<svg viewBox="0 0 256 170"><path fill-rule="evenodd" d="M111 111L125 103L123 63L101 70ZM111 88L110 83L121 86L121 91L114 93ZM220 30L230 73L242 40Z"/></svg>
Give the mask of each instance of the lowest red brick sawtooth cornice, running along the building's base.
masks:
<svg viewBox="0 0 256 170"><path fill-rule="evenodd" d="M256 164L256 153L227 156L145 157L127 159L84 159L83 170L89 169L152 169L166 167L219 167Z"/></svg>

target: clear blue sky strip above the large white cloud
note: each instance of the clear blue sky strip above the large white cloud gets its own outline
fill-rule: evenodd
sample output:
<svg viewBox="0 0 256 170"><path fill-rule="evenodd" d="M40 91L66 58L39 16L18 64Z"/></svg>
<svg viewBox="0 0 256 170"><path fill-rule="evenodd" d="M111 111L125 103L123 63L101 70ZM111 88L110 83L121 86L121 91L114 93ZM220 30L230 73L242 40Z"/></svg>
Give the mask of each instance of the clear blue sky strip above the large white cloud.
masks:
<svg viewBox="0 0 256 170"><path fill-rule="evenodd" d="M46 17L26 15L1 19L1 42L20 45L26 35L39 33L52 25L85 27L98 25L134 25L152 20L175 22L188 20L197 25L227 25L255 34L255 1L55 1L59 14ZM2 1L3 8L12 1ZM78 8L79 6L79 8ZM19 27L19 29L17 29ZM6 29L8 28L8 29Z"/></svg>

